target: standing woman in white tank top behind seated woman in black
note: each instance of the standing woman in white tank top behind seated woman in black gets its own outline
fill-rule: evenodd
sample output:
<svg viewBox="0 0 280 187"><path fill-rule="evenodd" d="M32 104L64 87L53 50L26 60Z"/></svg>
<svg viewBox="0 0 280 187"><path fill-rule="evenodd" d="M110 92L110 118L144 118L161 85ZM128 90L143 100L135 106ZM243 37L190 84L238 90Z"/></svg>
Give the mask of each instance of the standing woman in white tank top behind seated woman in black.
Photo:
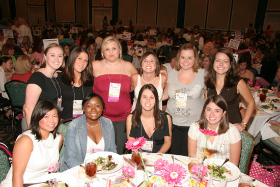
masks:
<svg viewBox="0 0 280 187"><path fill-rule="evenodd" d="M134 101L131 112L134 111L140 89L146 84L152 84L157 89L159 110L162 110L163 88L167 77L160 73L158 59L154 52L145 52L140 59L138 73L131 76L131 83L134 88Z"/></svg>

